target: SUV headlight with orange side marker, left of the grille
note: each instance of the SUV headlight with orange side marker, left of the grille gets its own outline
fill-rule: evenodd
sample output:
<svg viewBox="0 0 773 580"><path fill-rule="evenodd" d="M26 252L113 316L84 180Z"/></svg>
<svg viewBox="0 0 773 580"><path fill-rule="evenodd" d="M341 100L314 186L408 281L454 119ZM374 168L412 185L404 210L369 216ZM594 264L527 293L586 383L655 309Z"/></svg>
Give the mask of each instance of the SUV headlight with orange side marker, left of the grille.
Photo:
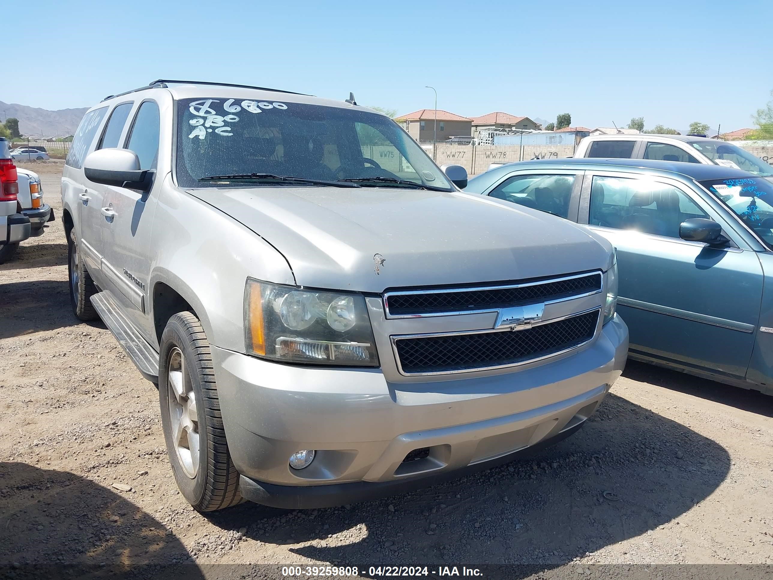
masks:
<svg viewBox="0 0 773 580"><path fill-rule="evenodd" d="M365 297L247 279L247 352L288 363L377 367Z"/></svg>

